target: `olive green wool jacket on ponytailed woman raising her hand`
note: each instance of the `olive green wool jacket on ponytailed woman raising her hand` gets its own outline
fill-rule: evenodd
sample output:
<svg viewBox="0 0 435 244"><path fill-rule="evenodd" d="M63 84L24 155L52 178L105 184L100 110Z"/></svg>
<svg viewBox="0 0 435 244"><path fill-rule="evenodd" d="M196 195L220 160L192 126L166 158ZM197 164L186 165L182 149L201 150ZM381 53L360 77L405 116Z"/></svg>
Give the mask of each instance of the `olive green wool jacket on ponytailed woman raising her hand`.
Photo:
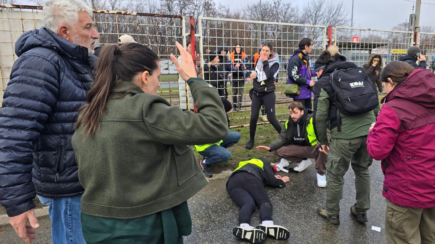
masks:
<svg viewBox="0 0 435 244"><path fill-rule="evenodd" d="M124 81L109 98L94 137L84 140L80 125L72 145L84 187L83 213L142 217L179 205L207 185L190 145L227 137L227 117L216 88L201 78L187 84L198 114Z"/></svg>

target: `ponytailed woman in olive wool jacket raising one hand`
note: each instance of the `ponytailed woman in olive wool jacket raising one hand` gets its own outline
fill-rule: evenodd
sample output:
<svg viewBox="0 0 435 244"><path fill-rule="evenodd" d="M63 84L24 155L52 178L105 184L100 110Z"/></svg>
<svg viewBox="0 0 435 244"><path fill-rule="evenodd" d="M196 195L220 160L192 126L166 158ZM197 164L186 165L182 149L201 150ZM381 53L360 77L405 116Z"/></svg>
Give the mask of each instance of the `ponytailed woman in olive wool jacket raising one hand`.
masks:
<svg viewBox="0 0 435 244"><path fill-rule="evenodd" d="M92 243L183 243L191 233L187 199L205 185L190 145L228 134L216 89L196 78L191 55L177 42L180 76L198 113L158 95L158 56L138 43L106 45L80 108L72 144L84 194L83 234Z"/></svg>

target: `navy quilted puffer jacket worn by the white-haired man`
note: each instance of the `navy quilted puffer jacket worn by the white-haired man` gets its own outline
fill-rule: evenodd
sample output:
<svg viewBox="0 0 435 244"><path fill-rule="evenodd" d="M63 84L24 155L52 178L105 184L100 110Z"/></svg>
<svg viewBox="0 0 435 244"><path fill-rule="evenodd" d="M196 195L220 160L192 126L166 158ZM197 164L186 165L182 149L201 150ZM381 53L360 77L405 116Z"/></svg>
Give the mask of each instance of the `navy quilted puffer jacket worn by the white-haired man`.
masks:
<svg viewBox="0 0 435 244"><path fill-rule="evenodd" d="M83 193L71 146L92 85L87 48L45 27L24 33L0 110L0 203L9 216L47 198Z"/></svg>

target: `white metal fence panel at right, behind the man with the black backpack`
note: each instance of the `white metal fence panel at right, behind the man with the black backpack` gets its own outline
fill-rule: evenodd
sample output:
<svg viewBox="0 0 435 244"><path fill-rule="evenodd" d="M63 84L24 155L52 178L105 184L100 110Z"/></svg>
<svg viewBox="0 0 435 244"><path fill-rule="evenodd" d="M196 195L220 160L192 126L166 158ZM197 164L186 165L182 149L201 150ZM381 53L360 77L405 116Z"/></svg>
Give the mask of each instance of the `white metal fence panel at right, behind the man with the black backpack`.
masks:
<svg viewBox="0 0 435 244"><path fill-rule="evenodd" d="M341 55L359 67L366 64L374 53L382 56L385 66L406 54L408 47L414 44L412 35L411 31L335 26L334 44Z"/></svg>

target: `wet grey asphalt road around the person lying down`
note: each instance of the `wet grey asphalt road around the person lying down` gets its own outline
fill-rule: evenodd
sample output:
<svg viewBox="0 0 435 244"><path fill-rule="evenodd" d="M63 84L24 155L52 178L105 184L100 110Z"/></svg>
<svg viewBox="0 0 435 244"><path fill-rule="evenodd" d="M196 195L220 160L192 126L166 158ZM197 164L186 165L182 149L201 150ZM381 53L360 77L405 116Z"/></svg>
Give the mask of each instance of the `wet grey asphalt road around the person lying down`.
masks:
<svg viewBox="0 0 435 244"><path fill-rule="evenodd" d="M371 166L371 209L368 222L360 224L350 214L349 208L355 203L354 173L350 169L345 175L345 187L341 200L340 225L328 223L318 216L316 208L325 204L325 188L316 182L314 163L304 172L281 173L289 176L290 182L283 189L268 188L273 204L273 220L290 231L288 241L267 239L264 244L384 244L385 200L381 195L384 179L378 161ZM222 174L225 174L223 172ZM228 175L228 171L227 171ZM192 234L185 237L187 244L238 244L246 243L232 235L238 225L238 206L225 190L227 175L214 177L197 195L191 198L189 207L192 215ZM220 178L220 179L218 179ZM40 219L34 244L51 243L50 219ZM252 216L251 225L260 224L258 209ZM371 230L372 225L381 227L381 232ZM0 243L23 243L8 226L0 228Z"/></svg>

